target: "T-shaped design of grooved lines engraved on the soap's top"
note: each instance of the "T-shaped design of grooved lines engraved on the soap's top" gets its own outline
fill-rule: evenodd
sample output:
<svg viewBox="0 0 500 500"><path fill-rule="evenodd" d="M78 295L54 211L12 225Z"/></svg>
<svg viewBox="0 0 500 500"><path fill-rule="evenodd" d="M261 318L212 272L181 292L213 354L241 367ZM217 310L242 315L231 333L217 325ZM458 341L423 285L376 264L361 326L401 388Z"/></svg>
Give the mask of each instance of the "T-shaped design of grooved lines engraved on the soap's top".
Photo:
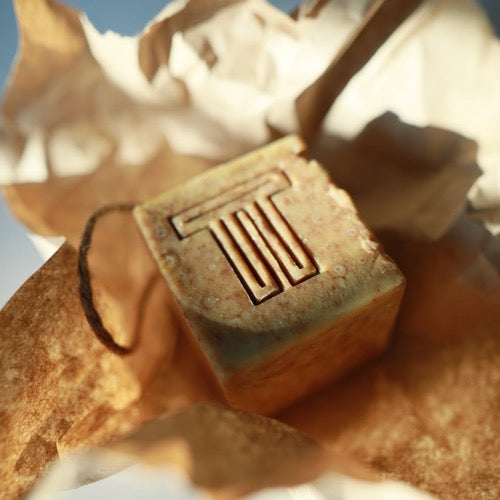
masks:
<svg viewBox="0 0 500 500"><path fill-rule="evenodd" d="M170 219L180 239L210 230L257 305L318 274L272 196L291 186L273 170L206 198Z"/></svg>

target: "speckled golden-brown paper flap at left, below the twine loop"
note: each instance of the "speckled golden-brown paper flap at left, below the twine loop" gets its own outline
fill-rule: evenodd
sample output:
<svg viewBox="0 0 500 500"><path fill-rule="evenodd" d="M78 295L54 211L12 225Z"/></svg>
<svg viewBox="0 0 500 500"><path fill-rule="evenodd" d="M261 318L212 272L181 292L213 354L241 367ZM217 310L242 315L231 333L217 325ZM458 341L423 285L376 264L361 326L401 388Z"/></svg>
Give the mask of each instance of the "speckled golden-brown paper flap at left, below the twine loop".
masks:
<svg viewBox="0 0 500 500"><path fill-rule="evenodd" d="M7 497L57 457L58 441L75 422L119 411L140 395L123 360L75 314L75 262L64 245L0 313L0 482Z"/></svg>

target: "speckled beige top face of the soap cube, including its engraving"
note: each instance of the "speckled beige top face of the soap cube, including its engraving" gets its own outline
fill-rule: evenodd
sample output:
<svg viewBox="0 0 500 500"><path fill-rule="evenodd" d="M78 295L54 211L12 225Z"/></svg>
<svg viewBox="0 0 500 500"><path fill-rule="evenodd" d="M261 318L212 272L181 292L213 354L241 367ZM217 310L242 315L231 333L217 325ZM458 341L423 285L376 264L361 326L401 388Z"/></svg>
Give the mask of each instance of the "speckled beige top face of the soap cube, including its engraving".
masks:
<svg viewBox="0 0 500 500"><path fill-rule="evenodd" d="M135 210L221 376L403 286L349 195L303 148L286 137Z"/></svg>

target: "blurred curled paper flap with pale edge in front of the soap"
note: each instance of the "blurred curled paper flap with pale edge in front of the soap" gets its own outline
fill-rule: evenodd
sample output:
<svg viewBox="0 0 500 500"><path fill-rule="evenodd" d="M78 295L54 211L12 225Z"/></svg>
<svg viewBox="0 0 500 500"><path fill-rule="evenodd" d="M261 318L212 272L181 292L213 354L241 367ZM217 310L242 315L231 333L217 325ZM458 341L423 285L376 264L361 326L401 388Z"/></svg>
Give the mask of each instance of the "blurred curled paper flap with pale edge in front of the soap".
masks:
<svg viewBox="0 0 500 500"><path fill-rule="evenodd" d="M148 469L138 468L138 460L148 464ZM336 498L360 498L351 496L351 490L356 491L353 484L365 493L375 487L379 494L385 491L410 499L430 498L401 483L380 481L375 471L336 456L277 420L206 403L146 424L105 450L65 457L37 486L32 498L50 498L56 488L85 482L95 470L111 472L131 464L134 468L126 472L142 483L146 495L144 483L164 476L164 466L169 464L188 475L200 492L203 488L217 498L240 497L263 487L297 485L314 480L320 473L319 483L327 484L316 484L316 488L330 495L335 492Z"/></svg>

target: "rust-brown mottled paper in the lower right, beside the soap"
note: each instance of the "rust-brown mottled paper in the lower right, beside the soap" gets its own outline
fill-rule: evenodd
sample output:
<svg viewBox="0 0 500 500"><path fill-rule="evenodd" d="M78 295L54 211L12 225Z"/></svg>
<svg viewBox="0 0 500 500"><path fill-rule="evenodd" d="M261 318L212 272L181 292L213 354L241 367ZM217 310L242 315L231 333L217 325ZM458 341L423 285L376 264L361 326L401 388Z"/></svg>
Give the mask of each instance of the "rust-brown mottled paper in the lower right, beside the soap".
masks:
<svg viewBox="0 0 500 500"><path fill-rule="evenodd" d="M389 349L281 416L442 498L495 498L500 486L500 279L491 265L490 293L464 279L481 253L464 248L470 224L435 243L385 235L408 280Z"/></svg>

